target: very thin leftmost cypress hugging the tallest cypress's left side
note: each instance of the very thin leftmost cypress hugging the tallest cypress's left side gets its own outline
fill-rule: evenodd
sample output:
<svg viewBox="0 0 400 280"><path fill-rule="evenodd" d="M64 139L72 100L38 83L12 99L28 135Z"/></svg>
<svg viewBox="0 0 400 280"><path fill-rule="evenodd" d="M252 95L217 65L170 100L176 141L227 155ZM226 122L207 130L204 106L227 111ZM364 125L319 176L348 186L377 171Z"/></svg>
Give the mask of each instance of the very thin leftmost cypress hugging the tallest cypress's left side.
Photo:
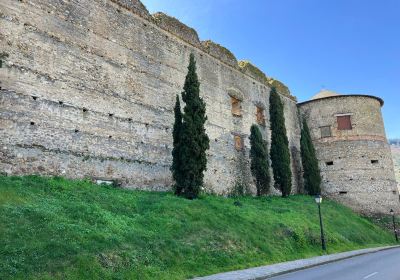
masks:
<svg viewBox="0 0 400 280"><path fill-rule="evenodd" d="M173 137L173 149L172 149L172 177L175 180L174 192L176 195L180 195L182 193L182 176L181 176L181 132L182 132L182 111L181 104L179 102L179 96L176 95L175 107L174 107L174 128L172 131Z"/></svg>

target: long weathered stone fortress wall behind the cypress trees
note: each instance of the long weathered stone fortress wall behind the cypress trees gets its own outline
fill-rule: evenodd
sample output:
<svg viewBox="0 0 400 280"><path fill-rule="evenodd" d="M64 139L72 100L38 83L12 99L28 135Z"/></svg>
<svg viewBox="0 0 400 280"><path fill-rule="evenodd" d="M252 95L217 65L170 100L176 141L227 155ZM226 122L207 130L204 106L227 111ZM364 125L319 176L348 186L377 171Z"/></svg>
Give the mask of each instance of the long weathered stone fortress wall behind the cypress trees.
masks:
<svg viewBox="0 0 400 280"><path fill-rule="evenodd" d="M252 185L248 134L261 104L270 139L270 81L228 50L166 15L153 18L139 1L4 0L0 8L0 49L9 55L0 69L1 172L170 187L173 106L193 52L207 104L206 187ZM241 118L231 114L231 88L243 95ZM298 175L296 102L281 93ZM293 183L296 191L298 176Z"/></svg>

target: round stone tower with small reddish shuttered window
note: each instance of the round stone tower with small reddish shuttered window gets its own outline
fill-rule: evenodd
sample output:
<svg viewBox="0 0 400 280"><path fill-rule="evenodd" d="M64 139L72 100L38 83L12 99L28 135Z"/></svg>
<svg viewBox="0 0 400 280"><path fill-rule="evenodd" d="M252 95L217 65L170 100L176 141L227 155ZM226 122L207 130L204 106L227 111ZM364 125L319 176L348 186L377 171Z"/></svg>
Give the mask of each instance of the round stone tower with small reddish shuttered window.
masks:
<svg viewBox="0 0 400 280"><path fill-rule="evenodd" d="M324 90L298 106L317 152L322 193L364 214L399 213L383 100Z"/></svg>

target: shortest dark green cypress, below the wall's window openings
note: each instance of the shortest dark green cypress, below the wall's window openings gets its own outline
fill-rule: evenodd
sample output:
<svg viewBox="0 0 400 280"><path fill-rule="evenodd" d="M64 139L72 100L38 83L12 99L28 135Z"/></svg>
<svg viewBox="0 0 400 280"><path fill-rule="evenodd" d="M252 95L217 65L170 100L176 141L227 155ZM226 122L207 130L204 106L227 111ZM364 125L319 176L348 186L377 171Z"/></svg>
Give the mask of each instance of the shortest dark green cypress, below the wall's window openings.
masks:
<svg viewBox="0 0 400 280"><path fill-rule="evenodd" d="M266 195L269 191L269 161L267 145L262 139L260 129L252 125L250 129L251 174L256 180L257 196Z"/></svg>

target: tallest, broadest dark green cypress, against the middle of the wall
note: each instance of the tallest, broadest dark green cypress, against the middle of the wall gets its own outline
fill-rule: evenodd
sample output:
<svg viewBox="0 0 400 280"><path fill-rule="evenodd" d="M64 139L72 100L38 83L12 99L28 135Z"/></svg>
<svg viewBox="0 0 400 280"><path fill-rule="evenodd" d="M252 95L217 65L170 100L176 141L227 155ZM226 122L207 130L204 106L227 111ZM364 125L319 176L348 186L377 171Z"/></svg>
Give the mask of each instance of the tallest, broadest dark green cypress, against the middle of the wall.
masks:
<svg viewBox="0 0 400 280"><path fill-rule="evenodd" d="M183 87L182 99L185 102L180 136L180 179L182 195L189 199L198 197L203 185L204 171L207 167L206 150L209 138L204 124L207 120L206 104L200 97L200 83L196 74L196 61L190 55L188 73Z"/></svg>

